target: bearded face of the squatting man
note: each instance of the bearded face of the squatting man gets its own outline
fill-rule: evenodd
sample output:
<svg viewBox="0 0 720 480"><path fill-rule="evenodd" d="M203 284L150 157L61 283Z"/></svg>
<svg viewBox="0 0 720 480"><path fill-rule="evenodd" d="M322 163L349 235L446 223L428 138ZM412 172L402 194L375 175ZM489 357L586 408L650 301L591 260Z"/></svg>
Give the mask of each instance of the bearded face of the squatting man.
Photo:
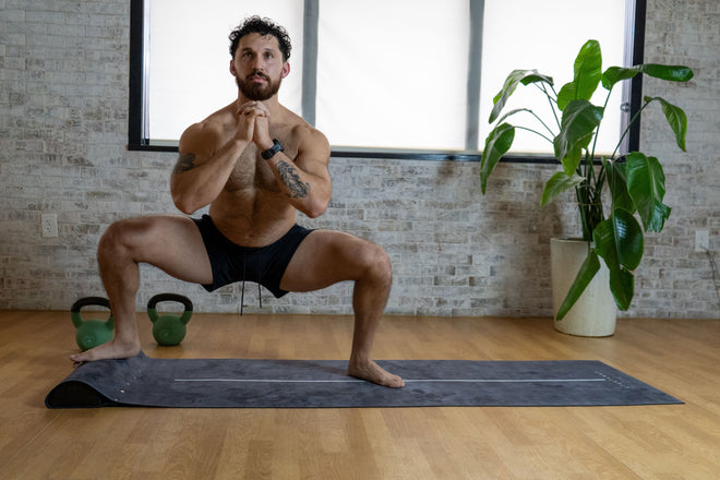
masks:
<svg viewBox="0 0 720 480"><path fill-rule="evenodd" d="M240 38L230 72L245 97L263 101L277 94L290 65L283 61L277 38L248 34Z"/></svg>

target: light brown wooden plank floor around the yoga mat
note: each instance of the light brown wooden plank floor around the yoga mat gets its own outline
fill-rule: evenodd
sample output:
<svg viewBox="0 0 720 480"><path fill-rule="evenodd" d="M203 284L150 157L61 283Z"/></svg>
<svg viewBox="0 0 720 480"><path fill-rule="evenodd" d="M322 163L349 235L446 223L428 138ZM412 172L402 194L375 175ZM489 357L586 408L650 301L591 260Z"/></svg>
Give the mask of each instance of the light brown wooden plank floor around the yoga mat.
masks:
<svg viewBox="0 0 720 480"><path fill-rule="evenodd" d="M99 315L96 315L99 316ZM195 314L168 358L344 359L347 316ZM48 410L72 370L68 312L0 312L2 479L718 479L720 321L384 320L380 359L600 360L685 405L581 408Z"/></svg>

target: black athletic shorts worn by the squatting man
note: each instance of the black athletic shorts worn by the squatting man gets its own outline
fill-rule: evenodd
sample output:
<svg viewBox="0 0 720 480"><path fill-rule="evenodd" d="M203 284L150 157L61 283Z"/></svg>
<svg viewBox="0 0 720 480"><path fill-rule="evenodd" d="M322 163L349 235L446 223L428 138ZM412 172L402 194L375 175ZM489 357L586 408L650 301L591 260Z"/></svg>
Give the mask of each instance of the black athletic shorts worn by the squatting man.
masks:
<svg viewBox="0 0 720 480"><path fill-rule="evenodd" d="M304 238L313 231L295 225L283 238L266 247L241 247L232 243L215 227L209 215L193 218L203 236L213 267L213 283L203 285L207 291L236 281L254 281L267 288L276 298L287 293L280 280Z"/></svg>

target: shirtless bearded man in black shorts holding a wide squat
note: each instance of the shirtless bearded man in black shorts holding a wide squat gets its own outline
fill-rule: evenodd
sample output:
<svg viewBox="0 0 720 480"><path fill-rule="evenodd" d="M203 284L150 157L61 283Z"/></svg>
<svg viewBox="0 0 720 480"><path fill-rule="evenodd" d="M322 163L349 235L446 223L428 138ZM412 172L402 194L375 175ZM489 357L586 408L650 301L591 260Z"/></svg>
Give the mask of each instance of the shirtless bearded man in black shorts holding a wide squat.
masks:
<svg viewBox="0 0 720 480"><path fill-rule="evenodd" d="M348 374L401 387L403 380L370 355L389 296L387 254L347 233L296 225L297 211L314 218L327 208L329 145L278 101L280 82L290 72L289 37L283 27L255 16L230 40L238 98L185 130L170 184L181 212L209 205L209 216L130 218L108 228L97 256L115 338L71 360L79 364L140 352L135 295L139 264L148 263L207 290L247 278L276 297L353 280Z"/></svg>

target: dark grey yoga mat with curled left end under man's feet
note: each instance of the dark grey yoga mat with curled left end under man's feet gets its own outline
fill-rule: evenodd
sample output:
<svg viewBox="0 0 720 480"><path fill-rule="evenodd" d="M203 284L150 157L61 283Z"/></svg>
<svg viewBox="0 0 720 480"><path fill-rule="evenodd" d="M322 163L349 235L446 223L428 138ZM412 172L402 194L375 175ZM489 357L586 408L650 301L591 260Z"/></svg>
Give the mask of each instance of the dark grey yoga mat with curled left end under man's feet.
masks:
<svg viewBox="0 0 720 480"><path fill-rule="evenodd" d="M338 408L682 404L599 361L385 360L406 382L347 376L340 360L153 359L80 365L48 408Z"/></svg>

